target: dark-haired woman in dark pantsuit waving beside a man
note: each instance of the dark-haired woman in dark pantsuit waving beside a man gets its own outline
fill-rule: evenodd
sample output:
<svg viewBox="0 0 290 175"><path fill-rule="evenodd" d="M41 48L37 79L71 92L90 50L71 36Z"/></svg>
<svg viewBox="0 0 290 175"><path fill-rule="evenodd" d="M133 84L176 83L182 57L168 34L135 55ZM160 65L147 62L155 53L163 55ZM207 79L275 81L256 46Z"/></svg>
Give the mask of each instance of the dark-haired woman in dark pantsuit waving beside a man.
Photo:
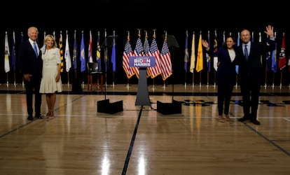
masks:
<svg viewBox="0 0 290 175"><path fill-rule="evenodd" d="M230 109L230 98L233 93L233 86L235 85L235 40L233 36L226 37L225 43L216 52L209 50L207 41L202 41L202 45L211 57L218 57L218 69L216 71L217 85L218 85L218 110L219 122L223 123L225 119L230 121L228 112ZM223 113L225 118L223 118Z"/></svg>

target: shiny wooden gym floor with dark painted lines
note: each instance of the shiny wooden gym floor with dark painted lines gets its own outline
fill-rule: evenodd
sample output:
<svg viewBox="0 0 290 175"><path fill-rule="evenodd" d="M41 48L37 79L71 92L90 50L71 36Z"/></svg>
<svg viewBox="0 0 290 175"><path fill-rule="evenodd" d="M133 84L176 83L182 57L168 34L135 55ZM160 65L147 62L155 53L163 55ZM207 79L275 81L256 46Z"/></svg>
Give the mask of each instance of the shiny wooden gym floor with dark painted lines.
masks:
<svg viewBox="0 0 290 175"><path fill-rule="evenodd" d="M237 121L239 87L225 123L216 120L213 85L149 85L151 106L135 106L137 85L63 87L55 118L29 121L24 87L0 85L0 174L290 174L287 86L261 88L261 125ZM97 112L103 99L123 101L123 111ZM181 113L158 112L157 101L172 99Z"/></svg>

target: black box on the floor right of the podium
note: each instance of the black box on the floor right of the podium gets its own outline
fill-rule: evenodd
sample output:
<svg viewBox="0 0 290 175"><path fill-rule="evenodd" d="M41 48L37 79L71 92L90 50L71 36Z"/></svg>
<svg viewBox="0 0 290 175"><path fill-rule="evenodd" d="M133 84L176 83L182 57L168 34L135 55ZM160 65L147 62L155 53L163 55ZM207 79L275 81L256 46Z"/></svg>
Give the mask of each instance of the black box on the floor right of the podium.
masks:
<svg viewBox="0 0 290 175"><path fill-rule="evenodd" d="M163 103L157 101L157 111L164 115L181 113L181 104L181 102L177 102L175 100L173 100L172 103Z"/></svg>

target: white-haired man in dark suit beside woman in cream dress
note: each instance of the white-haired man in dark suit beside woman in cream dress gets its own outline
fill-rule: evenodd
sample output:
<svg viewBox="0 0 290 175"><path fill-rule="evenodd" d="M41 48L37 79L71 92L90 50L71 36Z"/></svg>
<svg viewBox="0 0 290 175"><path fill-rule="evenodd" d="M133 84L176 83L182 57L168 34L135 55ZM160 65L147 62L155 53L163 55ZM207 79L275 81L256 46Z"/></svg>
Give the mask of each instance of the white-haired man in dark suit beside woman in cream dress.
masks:
<svg viewBox="0 0 290 175"><path fill-rule="evenodd" d="M39 31L36 27L29 27L27 30L28 40L20 44L18 50L18 59L20 62L20 71L25 80L26 102L27 102L27 120L33 120L33 94L35 95L34 110L35 118L43 118L41 116L41 94L39 87L42 76L42 59L39 52L39 46L36 39Z"/></svg>

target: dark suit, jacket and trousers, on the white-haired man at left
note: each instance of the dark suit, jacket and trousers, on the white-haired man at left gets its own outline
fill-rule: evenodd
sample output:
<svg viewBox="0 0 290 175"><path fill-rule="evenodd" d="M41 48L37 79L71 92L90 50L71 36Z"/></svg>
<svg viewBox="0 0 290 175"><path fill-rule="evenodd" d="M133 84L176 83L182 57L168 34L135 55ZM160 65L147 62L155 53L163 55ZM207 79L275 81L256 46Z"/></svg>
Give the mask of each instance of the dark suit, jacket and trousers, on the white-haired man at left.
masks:
<svg viewBox="0 0 290 175"><path fill-rule="evenodd" d="M33 94L35 94L35 115L41 115L41 94L39 94L39 87L42 77L42 59L41 52L39 52L39 57L36 57L34 49L29 41L24 41L20 43L18 49L18 59L20 72L22 75L31 74L30 81L25 80L25 89L26 89L26 100L27 100L27 113L28 115L33 114Z"/></svg>

